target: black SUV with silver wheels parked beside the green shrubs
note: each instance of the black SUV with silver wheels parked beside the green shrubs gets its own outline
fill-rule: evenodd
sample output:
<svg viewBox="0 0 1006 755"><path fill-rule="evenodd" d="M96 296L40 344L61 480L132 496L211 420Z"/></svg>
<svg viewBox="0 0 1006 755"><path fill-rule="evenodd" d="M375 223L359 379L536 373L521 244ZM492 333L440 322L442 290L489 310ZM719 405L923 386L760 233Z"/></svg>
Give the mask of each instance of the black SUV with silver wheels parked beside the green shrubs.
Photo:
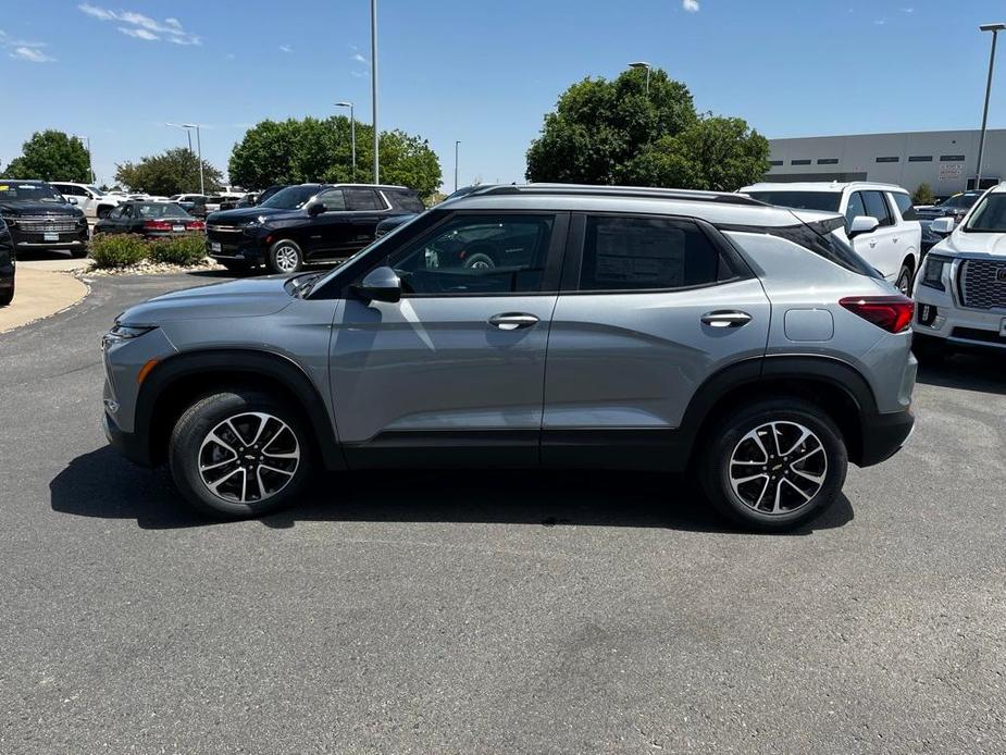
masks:
<svg viewBox="0 0 1006 755"><path fill-rule="evenodd" d="M402 186L302 184L257 207L207 218L207 253L228 270L264 264L295 273L306 262L343 260L374 240L385 218L423 211Z"/></svg>

